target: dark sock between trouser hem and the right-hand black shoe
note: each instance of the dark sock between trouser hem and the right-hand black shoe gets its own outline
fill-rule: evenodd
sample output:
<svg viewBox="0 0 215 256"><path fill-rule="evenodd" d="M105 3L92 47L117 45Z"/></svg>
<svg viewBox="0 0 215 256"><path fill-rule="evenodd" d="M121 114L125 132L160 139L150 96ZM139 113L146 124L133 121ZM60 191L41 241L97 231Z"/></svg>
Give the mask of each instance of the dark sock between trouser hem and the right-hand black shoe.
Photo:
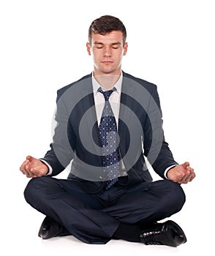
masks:
<svg viewBox="0 0 215 256"><path fill-rule="evenodd" d="M136 224L120 223L113 234L113 238L119 238L130 242L140 242L140 227Z"/></svg>

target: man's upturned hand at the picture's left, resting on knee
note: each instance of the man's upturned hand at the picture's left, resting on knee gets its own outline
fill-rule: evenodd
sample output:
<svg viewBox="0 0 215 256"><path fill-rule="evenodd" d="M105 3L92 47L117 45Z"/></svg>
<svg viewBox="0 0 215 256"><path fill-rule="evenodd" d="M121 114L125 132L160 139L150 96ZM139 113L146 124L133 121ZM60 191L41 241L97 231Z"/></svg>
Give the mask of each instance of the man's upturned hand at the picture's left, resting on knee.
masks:
<svg viewBox="0 0 215 256"><path fill-rule="evenodd" d="M45 176L49 169L48 166L39 159L28 156L20 166L20 171L26 175L27 178L35 178Z"/></svg>

